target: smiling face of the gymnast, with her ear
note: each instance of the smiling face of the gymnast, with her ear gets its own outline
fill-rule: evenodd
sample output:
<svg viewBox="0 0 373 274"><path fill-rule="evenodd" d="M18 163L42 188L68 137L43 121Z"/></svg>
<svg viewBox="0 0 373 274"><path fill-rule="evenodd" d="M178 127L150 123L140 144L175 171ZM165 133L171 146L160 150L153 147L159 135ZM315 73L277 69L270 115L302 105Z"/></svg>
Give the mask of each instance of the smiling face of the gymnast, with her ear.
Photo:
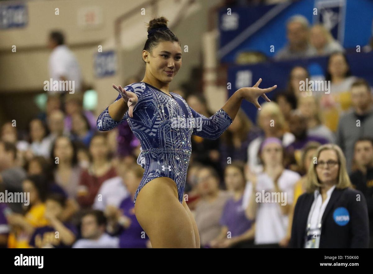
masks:
<svg viewBox="0 0 373 274"><path fill-rule="evenodd" d="M160 42L152 52L143 51L148 72L163 83L170 83L181 68L181 47L178 42Z"/></svg>

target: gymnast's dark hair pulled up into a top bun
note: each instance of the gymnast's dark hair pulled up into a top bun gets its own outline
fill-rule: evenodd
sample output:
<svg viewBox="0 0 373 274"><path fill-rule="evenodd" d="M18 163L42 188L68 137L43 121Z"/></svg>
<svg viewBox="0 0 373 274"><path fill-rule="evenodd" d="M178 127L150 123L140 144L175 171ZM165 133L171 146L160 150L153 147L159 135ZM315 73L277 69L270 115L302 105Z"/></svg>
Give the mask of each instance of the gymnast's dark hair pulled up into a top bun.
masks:
<svg viewBox="0 0 373 274"><path fill-rule="evenodd" d="M168 20L165 17L154 18L150 20L148 25L148 32L153 29L152 33L149 34L148 39L145 42L144 49L148 52L151 52L153 48L157 47L160 42L164 41L172 41L172 42L179 42L179 39L176 37L175 34L172 33L169 29L159 29L159 28L167 28ZM180 42L179 42L180 44Z"/></svg>

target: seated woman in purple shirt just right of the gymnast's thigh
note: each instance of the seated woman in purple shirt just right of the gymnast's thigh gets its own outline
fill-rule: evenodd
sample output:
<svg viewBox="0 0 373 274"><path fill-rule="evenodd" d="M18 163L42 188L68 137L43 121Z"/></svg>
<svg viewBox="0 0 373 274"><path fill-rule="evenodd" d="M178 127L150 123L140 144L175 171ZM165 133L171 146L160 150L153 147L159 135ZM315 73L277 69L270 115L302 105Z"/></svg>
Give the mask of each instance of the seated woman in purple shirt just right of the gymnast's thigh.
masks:
<svg viewBox="0 0 373 274"><path fill-rule="evenodd" d="M217 248L244 248L253 243L255 235L255 218L247 218L245 208L242 206L245 175L244 163L233 162L226 166L224 181L227 189L233 196L225 203L220 224L221 232L216 239L212 240L211 247Z"/></svg>

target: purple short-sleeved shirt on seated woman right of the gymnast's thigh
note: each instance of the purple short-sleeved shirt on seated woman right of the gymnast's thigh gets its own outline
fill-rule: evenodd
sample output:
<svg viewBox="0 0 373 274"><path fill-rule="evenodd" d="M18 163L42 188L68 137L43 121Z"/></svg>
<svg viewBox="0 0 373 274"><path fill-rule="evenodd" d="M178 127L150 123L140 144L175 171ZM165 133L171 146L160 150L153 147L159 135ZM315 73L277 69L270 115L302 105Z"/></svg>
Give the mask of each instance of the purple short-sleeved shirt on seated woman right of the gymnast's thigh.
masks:
<svg viewBox="0 0 373 274"><path fill-rule="evenodd" d="M220 218L220 224L228 227L232 237L242 235L253 224L252 220L246 218L245 208L242 206L242 198L243 196L238 201L233 200L233 198L227 200Z"/></svg>

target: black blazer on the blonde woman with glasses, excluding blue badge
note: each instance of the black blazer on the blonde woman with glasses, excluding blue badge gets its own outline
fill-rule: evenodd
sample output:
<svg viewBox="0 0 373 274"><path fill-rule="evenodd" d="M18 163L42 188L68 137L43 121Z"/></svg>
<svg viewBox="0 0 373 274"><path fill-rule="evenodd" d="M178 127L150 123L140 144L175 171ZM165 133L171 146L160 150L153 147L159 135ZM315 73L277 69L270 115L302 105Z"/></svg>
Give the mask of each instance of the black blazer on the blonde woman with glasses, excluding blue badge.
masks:
<svg viewBox="0 0 373 274"><path fill-rule="evenodd" d="M357 201L360 194L360 201ZM295 205L289 247L303 248L308 214L314 200L314 193L302 194ZM335 223L333 212L345 207L350 221L345 226ZM361 191L335 188L322 217L319 248L368 248L369 218L367 203Z"/></svg>

